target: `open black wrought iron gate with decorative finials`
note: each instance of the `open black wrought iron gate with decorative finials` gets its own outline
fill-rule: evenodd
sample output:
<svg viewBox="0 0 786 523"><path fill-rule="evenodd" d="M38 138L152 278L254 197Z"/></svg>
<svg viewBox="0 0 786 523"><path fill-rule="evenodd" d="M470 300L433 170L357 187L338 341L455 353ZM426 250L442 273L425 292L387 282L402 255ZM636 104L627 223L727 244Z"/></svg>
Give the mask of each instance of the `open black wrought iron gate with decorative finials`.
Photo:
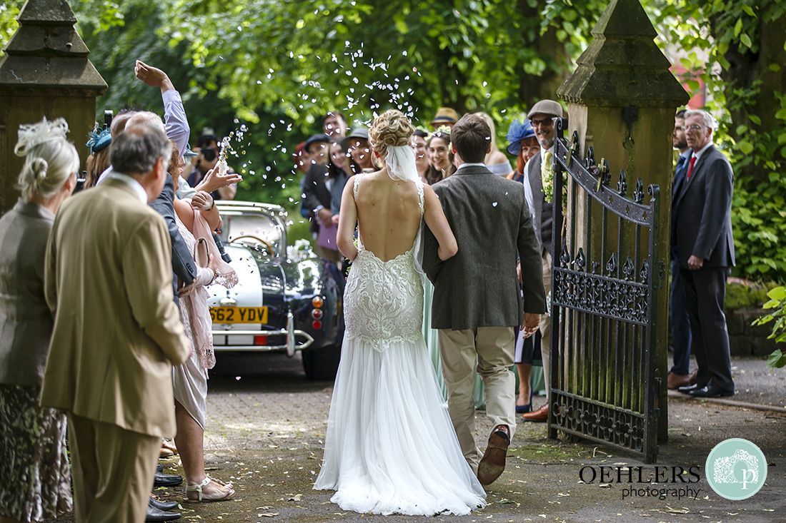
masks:
<svg viewBox="0 0 786 523"><path fill-rule="evenodd" d="M624 171L612 188L608 162L597 166L592 148L580 159L578 134L568 144L566 127L567 120L556 120L549 437L561 430L653 463L656 304L665 276L658 262L659 188L647 188L648 205L641 178L633 199ZM573 180L565 193L564 172Z"/></svg>

